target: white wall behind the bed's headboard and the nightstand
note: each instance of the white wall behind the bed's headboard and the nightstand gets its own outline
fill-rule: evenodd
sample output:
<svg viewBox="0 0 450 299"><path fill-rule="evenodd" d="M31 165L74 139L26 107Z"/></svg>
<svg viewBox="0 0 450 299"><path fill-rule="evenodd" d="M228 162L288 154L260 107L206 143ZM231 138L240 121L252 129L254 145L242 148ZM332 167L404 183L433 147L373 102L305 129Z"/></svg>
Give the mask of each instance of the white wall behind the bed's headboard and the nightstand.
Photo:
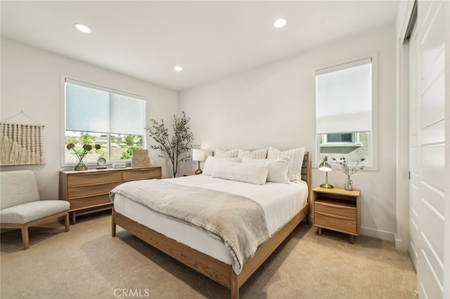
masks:
<svg viewBox="0 0 450 299"><path fill-rule="evenodd" d="M196 140L207 150L306 146L314 154L314 69L378 52L378 171L361 171L353 178L354 187L362 194L361 234L394 241L395 46L394 25L383 27L183 91L180 111L191 117ZM323 176L313 170L313 187L323 183ZM328 180L343 187L345 175L331 171Z"/></svg>

